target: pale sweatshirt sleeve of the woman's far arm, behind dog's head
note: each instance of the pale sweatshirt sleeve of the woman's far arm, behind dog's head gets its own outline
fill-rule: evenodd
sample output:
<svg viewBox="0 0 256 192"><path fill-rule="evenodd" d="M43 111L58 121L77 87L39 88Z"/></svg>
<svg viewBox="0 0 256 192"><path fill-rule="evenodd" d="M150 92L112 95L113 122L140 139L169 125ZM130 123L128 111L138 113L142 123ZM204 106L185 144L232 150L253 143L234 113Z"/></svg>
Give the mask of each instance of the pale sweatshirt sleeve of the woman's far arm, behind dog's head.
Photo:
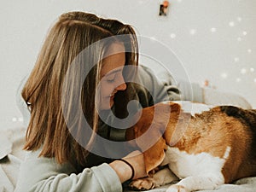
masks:
<svg viewBox="0 0 256 192"><path fill-rule="evenodd" d="M202 88L199 84L189 83L183 80L175 81L169 73L154 74L148 67L141 67L140 82L153 96L154 102L150 101L144 90L143 94L139 94L139 97L145 96L141 101L147 101L150 106L157 102L164 101L192 101L203 102ZM147 107L147 104L143 107Z"/></svg>

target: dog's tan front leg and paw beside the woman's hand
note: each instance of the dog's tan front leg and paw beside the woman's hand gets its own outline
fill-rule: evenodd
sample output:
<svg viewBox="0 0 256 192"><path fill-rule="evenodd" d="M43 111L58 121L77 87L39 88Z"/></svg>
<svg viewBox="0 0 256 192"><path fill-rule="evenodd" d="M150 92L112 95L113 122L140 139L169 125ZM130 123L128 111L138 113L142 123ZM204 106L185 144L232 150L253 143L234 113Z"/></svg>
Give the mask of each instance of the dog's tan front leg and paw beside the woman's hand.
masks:
<svg viewBox="0 0 256 192"><path fill-rule="evenodd" d="M130 183L131 189L154 189L172 181L179 180L169 168L156 172L153 177L138 178Z"/></svg>

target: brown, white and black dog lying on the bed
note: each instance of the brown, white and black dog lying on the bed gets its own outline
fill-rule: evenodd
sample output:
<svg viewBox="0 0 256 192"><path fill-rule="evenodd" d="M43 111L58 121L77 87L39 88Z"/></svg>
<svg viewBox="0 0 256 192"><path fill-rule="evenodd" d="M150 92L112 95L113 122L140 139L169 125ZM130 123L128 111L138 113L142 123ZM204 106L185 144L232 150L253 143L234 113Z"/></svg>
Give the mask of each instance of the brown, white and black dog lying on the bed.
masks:
<svg viewBox="0 0 256 192"><path fill-rule="evenodd" d="M188 106L203 112L188 113L190 110L183 109ZM162 119L168 119L167 123L162 123ZM150 136L148 141L157 137L152 146L138 140L146 132ZM256 176L253 109L209 108L191 102L159 103L143 109L137 124L127 131L127 138L136 138L137 145L146 149L143 154L148 177L131 182L132 189L154 189L180 179L166 191L189 192L216 189L241 177Z"/></svg>

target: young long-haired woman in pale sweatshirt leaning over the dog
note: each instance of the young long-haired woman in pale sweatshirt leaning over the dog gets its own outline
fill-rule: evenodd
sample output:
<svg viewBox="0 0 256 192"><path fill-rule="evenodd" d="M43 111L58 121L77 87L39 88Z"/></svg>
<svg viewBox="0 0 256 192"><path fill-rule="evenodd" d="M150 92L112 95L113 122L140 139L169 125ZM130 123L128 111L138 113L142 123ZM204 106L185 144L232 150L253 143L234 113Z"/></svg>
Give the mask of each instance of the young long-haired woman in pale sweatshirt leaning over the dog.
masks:
<svg viewBox="0 0 256 192"><path fill-rule="evenodd" d="M148 68L134 71L137 59L131 26L83 12L60 16L21 93L30 120L16 192L117 192L145 176L143 154L118 143L125 141L119 125L131 115L127 104L145 108L178 100L180 92L163 89Z"/></svg>

